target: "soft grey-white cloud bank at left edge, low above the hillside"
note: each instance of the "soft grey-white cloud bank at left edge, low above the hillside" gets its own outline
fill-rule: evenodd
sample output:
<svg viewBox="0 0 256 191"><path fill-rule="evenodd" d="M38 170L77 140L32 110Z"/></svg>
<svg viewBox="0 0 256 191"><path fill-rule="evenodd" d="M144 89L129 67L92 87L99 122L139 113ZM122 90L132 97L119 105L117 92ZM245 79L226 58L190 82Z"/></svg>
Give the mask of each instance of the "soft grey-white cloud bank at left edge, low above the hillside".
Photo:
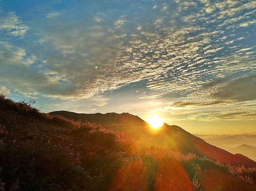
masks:
<svg viewBox="0 0 256 191"><path fill-rule="evenodd" d="M28 55L24 49L9 43L0 41L0 45L0 81L6 84L8 91L28 97L37 96L39 92L47 96L52 95L54 98L62 95L62 98L66 99L71 92L73 94L73 86L62 77L54 76L42 68L39 71L34 70L36 56ZM31 65L35 66L31 68Z"/></svg>

